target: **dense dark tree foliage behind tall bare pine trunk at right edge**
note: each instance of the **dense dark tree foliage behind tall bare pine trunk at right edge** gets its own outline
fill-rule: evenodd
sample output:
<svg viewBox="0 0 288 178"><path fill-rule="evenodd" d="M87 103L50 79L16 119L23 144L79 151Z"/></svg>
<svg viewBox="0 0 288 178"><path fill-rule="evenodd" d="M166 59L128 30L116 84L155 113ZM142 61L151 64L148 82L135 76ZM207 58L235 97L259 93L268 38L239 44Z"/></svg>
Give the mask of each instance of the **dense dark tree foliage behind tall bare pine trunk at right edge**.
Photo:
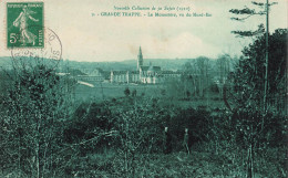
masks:
<svg viewBox="0 0 288 178"><path fill-rule="evenodd" d="M287 29L278 29L272 35L269 36L269 61L268 80L269 90L267 90L268 104L274 103L274 97L281 97L285 95L285 74L286 74L286 60L287 60ZM263 101L259 101L265 93L265 35L258 36L254 43L243 50L243 57L239 64L236 66L234 73L234 82L236 92L244 92L253 94L253 100L258 105L264 105ZM246 98L246 102L250 100Z"/></svg>

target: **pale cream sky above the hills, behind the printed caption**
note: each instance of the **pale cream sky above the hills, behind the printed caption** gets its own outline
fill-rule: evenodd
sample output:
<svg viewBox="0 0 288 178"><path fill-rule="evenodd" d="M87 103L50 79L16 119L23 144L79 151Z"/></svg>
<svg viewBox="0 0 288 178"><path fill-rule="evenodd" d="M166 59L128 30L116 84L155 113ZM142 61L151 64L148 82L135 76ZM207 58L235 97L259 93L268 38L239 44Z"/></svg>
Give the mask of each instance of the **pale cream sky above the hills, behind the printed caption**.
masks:
<svg viewBox="0 0 288 178"><path fill-rule="evenodd" d="M10 56L6 41L6 2L0 0L0 56ZM20 0L18 0L20 1ZM25 0L27 2L31 0ZM256 0L265 2L266 0ZM271 1L271 0L270 0ZM277 0L275 0L277 1ZM269 30L287 28L287 0L271 7ZM115 7L141 7L153 10L115 10ZM144 59L189 59L200 55L240 55L250 39L235 38L233 30L255 30L265 17L245 22L230 20L229 9L245 6L256 9L250 0L45 0L44 27L53 30L62 43L62 59L73 61L124 61ZM160 13L209 13L212 17L147 17L158 7L189 8L189 11L160 10ZM107 12L141 12L142 17L104 17ZM146 15L144 15L146 14Z"/></svg>

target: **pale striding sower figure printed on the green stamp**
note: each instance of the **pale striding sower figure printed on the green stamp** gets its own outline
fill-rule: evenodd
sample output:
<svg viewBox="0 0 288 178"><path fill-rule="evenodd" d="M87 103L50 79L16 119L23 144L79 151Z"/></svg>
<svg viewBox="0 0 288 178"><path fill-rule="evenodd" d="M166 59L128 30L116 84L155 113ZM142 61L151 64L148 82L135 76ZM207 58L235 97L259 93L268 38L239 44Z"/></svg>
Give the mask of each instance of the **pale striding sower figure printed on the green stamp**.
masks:
<svg viewBox="0 0 288 178"><path fill-rule="evenodd" d="M19 27L20 33L21 33L21 40L23 45L25 45L27 43L32 43L33 45L35 45L35 39L37 35L31 33L28 30L28 20L32 20L34 22L38 22L38 19L34 19L31 17L31 14L34 14L34 11L31 11L27 8L27 6L23 7L22 12L19 14L19 17L14 20L13 25L14 27Z"/></svg>

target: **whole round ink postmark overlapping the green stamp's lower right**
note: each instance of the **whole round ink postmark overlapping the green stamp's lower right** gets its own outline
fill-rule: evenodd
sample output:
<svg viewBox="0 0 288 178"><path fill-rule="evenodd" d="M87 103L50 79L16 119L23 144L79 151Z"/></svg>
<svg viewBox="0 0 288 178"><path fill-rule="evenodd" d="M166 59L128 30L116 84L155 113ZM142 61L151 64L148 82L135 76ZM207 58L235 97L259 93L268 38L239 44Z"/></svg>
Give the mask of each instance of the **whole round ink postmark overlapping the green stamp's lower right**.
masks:
<svg viewBox="0 0 288 178"><path fill-rule="evenodd" d="M31 31L41 31L42 35L30 34ZM62 43L54 31L44 27L28 27L19 33L20 46L13 46L11 56L14 67L29 70L35 66L44 66L54 70L62 59ZM32 38L32 39L29 39ZM40 46L34 44L39 43Z"/></svg>

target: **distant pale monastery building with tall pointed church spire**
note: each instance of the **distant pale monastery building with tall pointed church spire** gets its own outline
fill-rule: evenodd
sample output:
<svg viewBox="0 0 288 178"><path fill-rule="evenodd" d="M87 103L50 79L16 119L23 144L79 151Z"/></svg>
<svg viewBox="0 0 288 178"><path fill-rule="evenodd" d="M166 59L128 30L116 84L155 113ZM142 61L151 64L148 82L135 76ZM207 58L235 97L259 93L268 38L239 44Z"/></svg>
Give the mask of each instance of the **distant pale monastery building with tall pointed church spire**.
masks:
<svg viewBox="0 0 288 178"><path fill-rule="evenodd" d="M111 83L164 83L167 78L181 78L181 72L161 71L161 66L143 65L143 54L140 48L136 71L111 71Z"/></svg>

